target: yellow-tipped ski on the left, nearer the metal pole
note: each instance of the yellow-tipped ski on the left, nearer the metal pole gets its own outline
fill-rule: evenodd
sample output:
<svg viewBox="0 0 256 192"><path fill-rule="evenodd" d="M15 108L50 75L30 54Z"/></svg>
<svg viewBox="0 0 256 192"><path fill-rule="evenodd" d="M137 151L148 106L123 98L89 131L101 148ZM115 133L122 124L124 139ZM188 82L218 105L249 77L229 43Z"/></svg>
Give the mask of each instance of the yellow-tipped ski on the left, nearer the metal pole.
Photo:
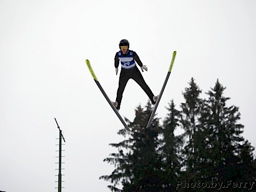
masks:
<svg viewBox="0 0 256 192"><path fill-rule="evenodd" d="M126 128L127 131L130 131L129 127L126 125L126 122L124 122L123 118L121 117L121 115L119 114L119 112L117 111L116 107L114 107L113 103L111 102L111 100L109 99L109 97L107 97L106 92L104 91L104 89L101 87L101 84L99 83L99 80L97 79L96 75L94 74L94 71L92 70L92 66L90 64L90 61L88 59L86 59L86 64L87 67L92 75L92 78L94 79L94 81L96 82L97 86L99 87L99 90L101 90L102 94L104 95L104 97L106 98L107 102L109 103L109 105L111 105L112 110L114 110L114 112L116 113L117 117L119 118L119 120L121 120L122 124L124 125L124 128Z"/></svg>

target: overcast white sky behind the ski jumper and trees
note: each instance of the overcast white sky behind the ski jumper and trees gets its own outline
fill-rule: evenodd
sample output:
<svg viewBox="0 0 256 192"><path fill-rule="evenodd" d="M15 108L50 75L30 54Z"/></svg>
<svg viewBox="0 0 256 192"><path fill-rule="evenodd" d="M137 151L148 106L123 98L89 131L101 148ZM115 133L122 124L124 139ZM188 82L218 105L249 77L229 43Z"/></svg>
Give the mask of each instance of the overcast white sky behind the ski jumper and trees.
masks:
<svg viewBox="0 0 256 192"><path fill-rule="evenodd" d="M121 39L149 68L142 75L155 95L177 50L157 117L171 99L179 108L191 77L203 93L219 79L256 146L255 8L254 0L0 0L0 190L57 191L55 117L66 137L62 191L109 191L99 176L114 170L103 160L123 139L122 124L85 60L115 100ZM147 100L130 80L121 115L133 120Z"/></svg>

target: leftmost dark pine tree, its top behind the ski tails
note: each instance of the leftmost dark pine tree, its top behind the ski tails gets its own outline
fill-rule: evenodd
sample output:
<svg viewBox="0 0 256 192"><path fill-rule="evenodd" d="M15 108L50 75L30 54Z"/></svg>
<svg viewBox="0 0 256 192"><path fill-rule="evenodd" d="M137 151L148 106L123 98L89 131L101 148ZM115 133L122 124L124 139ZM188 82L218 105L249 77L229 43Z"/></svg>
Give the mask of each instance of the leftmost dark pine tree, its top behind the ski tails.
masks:
<svg viewBox="0 0 256 192"><path fill-rule="evenodd" d="M128 137L120 143L112 143L118 148L118 153L104 161L112 163L116 169L111 175L101 176L100 179L111 181L108 186L112 191L121 191L117 185L122 185L124 191L160 191L162 186L159 147L159 120L154 118L152 126L145 129L149 120L152 106L147 103L144 110L137 107L133 122L129 122L132 132L121 130L119 135Z"/></svg>

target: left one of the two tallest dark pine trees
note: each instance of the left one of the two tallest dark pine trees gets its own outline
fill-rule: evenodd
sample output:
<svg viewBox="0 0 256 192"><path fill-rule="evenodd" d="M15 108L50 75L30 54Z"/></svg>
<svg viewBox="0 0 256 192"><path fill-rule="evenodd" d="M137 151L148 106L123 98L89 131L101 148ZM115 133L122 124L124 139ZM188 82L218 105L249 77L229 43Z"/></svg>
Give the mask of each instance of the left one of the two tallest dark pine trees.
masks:
<svg viewBox="0 0 256 192"><path fill-rule="evenodd" d="M200 148L202 148L200 141L203 140L199 137L199 118L202 109L202 99L199 96L202 90L200 90L198 85L195 84L193 78L189 82L189 85L190 87L185 88L185 92L183 93L185 102L181 103L181 124L185 131L183 134L185 146L184 152L182 153L182 166L185 170L183 176L184 180L196 181L200 175L200 167L196 164L197 156Z"/></svg>

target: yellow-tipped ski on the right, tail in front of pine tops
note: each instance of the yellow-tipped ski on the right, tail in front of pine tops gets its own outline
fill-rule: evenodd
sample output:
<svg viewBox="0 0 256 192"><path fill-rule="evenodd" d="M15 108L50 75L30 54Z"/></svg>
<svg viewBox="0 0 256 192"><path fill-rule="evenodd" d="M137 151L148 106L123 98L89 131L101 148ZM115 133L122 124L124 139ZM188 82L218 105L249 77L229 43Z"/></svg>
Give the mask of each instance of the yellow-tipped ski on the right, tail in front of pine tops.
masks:
<svg viewBox="0 0 256 192"><path fill-rule="evenodd" d="M153 109L153 111L152 111L152 113L151 113L151 115L150 115L149 122L147 123L147 127L146 127L146 128L149 128L150 125L151 125L151 123L152 123L152 120L153 120L154 115L155 115L155 111L157 110L157 107L158 107L158 105L159 105L159 102L160 102L160 99L161 99L161 97L162 97L162 94L164 93L165 86L166 86L167 81L168 81L168 79L169 79L169 77L170 77L170 72L172 72L172 66L174 65L175 57L176 57L176 50L175 50L175 51L173 52L173 54L172 54L172 61L170 62L170 67L169 67L167 76L166 76L166 78L165 78L164 85L163 85L163 87L162 87L162 89L161 89L161 91L160 91L159 97L157 98L157 102L155 103L155 107L154 107L154 109Z"/></svg>

